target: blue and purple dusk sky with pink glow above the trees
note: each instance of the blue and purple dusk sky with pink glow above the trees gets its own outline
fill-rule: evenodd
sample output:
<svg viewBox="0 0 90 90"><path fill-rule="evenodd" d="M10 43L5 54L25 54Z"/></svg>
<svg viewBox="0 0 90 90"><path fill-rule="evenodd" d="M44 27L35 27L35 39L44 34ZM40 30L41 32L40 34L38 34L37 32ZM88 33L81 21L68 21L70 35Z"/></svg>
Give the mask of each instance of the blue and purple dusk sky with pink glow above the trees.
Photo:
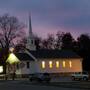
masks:
<svg viewBox="0 0 90 90"><path fill-rule="evenodd" d="M0 15L9 13L28 24L29 12L38 36L57 31L74 37L90 33L90 0L0 0Z"/></svg>

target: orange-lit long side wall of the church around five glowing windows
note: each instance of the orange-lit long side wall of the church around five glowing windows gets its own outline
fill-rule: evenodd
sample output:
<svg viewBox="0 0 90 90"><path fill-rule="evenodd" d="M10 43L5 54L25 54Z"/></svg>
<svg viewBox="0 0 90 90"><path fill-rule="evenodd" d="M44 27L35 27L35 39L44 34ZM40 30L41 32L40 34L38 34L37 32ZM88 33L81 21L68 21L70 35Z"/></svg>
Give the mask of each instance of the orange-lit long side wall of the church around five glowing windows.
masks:
<svg viewBox="0 0 90 90"><path fill-rule="evenodd" d="M82 71L82 60L81 59L48 59L45 61L45 69L41 67L42 60L38 61L39 72L49 72L49 73L62 73L62 72L80 72ZM49 61L53 62L53 67L49 68ZM56 61L60 62L60 67L56 68ZM65 61L65 67L63 67L63 61ZM72 67L70 68L69 61L72 62Z"/></svg>

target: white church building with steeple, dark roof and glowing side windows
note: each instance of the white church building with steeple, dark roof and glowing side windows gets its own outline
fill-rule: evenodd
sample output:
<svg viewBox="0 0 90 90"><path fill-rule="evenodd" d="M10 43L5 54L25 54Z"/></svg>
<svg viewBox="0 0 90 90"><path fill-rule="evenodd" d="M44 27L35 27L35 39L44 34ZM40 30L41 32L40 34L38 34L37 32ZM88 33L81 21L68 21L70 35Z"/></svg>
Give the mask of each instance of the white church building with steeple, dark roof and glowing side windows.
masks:
<svg viewBox="0 0 90 90"><path fill-rule="evenodd" d="M26 47L28 51L16 53L20 60L16 65L17 75L33 73L73 73L82 72L82 58L75 52L66 50L36 50L32 33L31 17L29 18L29 37Z"/></svg>

